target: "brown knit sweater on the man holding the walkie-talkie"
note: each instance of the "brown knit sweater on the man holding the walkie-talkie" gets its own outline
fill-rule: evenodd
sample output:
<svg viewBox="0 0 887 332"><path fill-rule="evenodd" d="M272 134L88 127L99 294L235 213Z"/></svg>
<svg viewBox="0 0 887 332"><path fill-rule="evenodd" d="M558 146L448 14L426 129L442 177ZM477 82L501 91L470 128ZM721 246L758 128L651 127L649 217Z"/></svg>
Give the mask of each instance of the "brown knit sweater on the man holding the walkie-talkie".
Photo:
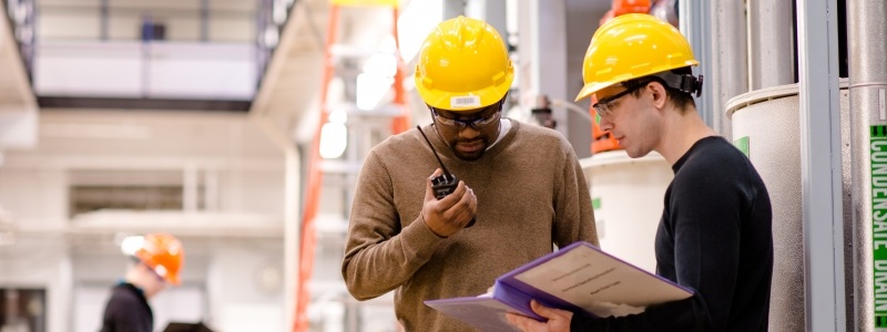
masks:
<svg viewBox="0 0 887 332"><path fill-rule="evenodd" d="M422 301L485 293L497 277L578 240L598 245L591 198L570 144L521 125L466 162L430 125L447 168L478 199L477 224L439 238L419 218L426 178L438 168L419 131L389 137L367 156L351 207L341 273L358 300L395 291L406 331L471 331Z"/></svg>

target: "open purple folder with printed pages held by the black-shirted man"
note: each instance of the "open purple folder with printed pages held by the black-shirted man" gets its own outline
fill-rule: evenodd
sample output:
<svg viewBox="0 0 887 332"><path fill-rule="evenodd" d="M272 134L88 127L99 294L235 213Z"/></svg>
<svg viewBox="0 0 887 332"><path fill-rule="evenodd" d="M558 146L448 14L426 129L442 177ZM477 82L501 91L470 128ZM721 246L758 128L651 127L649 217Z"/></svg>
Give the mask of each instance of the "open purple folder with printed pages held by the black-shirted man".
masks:
<svg viewBox="0 0 887 332"><path fill-rule="evenodd" d="M497 278L492 294L425 304L481 331L517 331L506 312L546 321L530 309L533 299L590 317L619 317L692 295L687 288L579 241Z"/></svg>

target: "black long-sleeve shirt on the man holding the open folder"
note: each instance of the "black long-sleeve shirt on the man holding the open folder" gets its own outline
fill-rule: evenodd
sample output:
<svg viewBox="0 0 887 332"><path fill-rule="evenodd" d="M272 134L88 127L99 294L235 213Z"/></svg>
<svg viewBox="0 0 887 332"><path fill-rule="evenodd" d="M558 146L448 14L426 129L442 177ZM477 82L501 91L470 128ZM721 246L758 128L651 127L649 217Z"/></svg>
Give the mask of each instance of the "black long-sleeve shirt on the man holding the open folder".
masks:
<svg viewBox="0 0 887 332"><path fill-rule="evenodd" d="M622 318L575 315L571 331L767 330L773 235L763 180L721 137L700 139L672 169L656 273L695 294Z"/></svg>

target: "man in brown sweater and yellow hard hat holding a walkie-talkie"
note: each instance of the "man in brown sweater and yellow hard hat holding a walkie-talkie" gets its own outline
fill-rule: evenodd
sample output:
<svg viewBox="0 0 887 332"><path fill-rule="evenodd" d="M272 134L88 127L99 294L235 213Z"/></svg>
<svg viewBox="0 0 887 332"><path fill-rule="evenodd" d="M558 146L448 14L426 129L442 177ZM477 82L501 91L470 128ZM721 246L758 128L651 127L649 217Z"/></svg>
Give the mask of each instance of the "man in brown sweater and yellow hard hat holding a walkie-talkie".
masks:
<svg viewBox="0 0 887 332"><path fill-rule="evenodd" d="M351 206L341 273L358 300L395 291L406 331L470 331L422 301L479 295L497 277L584 240L598 245L591 198L559 133L502 118L513 79L499 33L448 20L426 39L416 86L434 123L367 156ZM437 199L442 174L460 181ZM469 221L476 219L473 226ZM491 318L492 319L492 318Z"/></svg>

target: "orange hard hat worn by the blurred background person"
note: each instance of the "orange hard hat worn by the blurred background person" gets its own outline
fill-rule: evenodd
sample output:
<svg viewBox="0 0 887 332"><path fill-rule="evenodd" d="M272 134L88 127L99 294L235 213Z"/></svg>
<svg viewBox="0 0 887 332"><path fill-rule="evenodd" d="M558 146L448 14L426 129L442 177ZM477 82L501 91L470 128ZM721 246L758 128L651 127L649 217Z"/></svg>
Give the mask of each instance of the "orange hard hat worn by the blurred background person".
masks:
<svg viewBox="0 0 887 332"><path fill-rule="evenodd" d="M166 282L176 286L181 283L179 272L185 263L185 250L174 236L149 234L142 247L133 255Z"/></svg>

